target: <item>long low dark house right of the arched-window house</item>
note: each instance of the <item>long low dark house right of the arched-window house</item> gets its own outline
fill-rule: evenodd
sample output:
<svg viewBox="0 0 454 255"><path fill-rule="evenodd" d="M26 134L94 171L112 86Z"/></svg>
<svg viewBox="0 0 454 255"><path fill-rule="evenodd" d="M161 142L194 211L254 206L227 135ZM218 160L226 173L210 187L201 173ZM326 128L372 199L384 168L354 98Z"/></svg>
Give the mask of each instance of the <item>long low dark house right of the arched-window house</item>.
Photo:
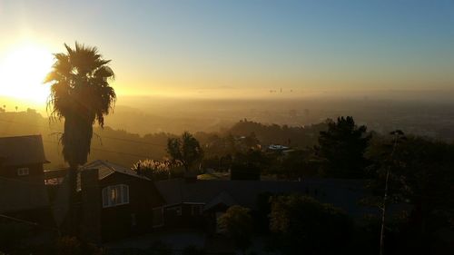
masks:
<svg viewBox="0 0 454 255"><path fill-rule="evenodd" d="M262 194L301 193L328 202L360 218L377 210L360 206L365 181L313 179L304 181L156 181L165 200L160 210L166 227L198 227L216 230L217 218L232 205L259 210ZM158 211L154 211L158 213Z"/></svg>

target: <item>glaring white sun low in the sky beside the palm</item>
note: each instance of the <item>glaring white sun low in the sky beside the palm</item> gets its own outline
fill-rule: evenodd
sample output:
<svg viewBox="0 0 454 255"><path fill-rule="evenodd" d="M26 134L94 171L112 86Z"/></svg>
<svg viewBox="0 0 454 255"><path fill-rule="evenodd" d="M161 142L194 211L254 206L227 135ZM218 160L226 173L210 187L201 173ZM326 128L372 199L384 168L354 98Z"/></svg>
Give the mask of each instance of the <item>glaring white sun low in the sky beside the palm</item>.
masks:
<svg viewBox="0 0 454 255"><path fill-rule="evenodd" d="M44 103L49 86L43 81L53 61L53 54L37 45L21 45L0 57L0 95Z"/></svg>

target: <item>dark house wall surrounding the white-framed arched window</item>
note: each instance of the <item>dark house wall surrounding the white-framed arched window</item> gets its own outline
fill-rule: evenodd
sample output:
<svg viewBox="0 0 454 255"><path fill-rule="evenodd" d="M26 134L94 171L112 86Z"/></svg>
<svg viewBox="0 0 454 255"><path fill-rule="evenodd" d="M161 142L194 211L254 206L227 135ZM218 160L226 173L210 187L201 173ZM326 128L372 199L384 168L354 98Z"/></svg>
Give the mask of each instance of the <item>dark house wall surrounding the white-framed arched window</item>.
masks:
<svg viewBox="0 0 454 255"><path fill-rule="evenodd" d="M153 208L163 205L163 199L153 181L115 172L100 181L99 200L102 191L111 185L125 184L129 187L129 203L102 208L101 234L103 240L115 240L133 234L153 230Z"/></svg>

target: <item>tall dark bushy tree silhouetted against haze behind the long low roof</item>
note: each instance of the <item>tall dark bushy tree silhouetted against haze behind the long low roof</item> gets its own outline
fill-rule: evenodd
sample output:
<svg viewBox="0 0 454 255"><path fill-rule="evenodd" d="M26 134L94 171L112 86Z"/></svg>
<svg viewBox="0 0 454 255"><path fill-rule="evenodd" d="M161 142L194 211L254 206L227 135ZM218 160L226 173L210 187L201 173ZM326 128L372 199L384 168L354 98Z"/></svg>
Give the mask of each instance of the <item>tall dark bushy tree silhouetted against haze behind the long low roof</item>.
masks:
<svg viewBox="0 0 454 255"><path fill-rule="evenodd" d="M326 159L324 173L333 178L364 178L370 137L366 126L357 126L350 116L328 123L328 131L320 132L318 148Z"/></svg>

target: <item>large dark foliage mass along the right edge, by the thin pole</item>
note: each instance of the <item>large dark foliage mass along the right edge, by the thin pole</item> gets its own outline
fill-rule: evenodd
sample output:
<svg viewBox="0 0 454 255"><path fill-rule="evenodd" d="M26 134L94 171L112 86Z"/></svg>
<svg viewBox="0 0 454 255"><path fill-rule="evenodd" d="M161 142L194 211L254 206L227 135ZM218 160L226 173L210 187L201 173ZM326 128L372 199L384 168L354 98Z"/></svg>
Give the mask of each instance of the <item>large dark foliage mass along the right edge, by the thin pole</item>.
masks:
<svg viewBox="0 0 454 255"><path fill-rule="evenodd" d="M383 142L374 142L368 152L373 162L370 190L376 195L383 193L385 170L388 169L390 202L405 201L413 206L408 223L396 230L402 233L395 235L399 241L385 236L385 248L429 253L439 247L435 244L434 233L445 228L454 229L454 144L407 136L391 158L391 138L381 140ZM392 243L398 243L399 247L392 247Z"/></svg>

